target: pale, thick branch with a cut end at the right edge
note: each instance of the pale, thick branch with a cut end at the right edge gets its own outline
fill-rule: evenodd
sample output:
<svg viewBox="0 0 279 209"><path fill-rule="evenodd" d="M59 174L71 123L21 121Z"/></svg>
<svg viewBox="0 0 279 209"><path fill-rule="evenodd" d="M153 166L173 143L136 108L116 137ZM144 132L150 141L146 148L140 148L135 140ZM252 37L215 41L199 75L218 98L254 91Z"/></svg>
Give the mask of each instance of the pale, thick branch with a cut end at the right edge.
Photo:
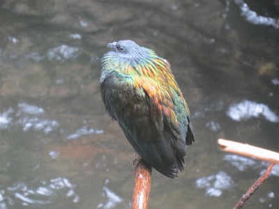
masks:
<svg viewBox="0 0 279 209"><path fill-rule="evenodd" d="M279 153L256 146L250 146L249 144L241 144L235 141L229 141L225 139L218 139L218 144L221 146L221 150L237 155L243 155L246 157L256 158L257 160L263 160L274 164L279 164Z"/></svg>

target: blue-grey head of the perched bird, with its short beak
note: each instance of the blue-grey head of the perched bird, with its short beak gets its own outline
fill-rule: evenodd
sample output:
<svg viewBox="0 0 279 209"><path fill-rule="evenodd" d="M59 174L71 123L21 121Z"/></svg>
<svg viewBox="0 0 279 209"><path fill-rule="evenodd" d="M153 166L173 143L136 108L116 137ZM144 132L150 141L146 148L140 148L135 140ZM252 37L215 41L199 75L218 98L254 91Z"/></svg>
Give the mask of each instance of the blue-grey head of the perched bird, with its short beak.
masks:
<svg viewBox="0 0 279 209"><path fill-rule="evenodd" d="M148 55L146 48L140 47L133 40L119 40L118 42L111 42L107 47L114 49L114 52L124 59L143 59Z"/></svg>

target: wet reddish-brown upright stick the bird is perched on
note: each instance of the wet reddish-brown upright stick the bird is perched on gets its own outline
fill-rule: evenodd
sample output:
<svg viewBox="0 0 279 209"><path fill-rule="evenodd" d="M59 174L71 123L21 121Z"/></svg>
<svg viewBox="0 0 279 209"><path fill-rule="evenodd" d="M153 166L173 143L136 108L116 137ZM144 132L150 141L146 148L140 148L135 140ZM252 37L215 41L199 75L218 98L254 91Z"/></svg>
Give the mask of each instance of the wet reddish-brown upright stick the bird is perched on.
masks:
<svg viewBox="0 0 279 209"><path fill-rule="evenodd" d="M140 160L137 164L132 209L147 209L151 189L151 171L151 165L144 160Z"/></svg>

